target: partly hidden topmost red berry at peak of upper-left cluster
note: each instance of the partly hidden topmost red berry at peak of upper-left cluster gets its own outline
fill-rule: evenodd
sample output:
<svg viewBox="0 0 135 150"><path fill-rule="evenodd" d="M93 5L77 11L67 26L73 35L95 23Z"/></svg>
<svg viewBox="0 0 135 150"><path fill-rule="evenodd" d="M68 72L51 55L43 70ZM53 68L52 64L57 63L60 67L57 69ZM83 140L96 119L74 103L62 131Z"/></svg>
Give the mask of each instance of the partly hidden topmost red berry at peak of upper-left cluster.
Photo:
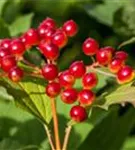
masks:
<svg viewBox="0 0 135 150"><path fill-rule="evenodd" d="M47 17L41 24L40 26L45 25L51 28L56 28L56 22L54 19Z"/></svg>

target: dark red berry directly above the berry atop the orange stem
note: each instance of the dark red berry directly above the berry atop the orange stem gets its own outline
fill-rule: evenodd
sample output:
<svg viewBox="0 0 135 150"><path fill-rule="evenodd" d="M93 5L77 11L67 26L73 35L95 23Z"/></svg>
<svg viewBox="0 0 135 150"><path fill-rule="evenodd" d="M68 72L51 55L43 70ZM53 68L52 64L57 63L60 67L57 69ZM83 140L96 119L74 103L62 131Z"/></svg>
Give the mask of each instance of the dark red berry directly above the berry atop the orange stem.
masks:
<svg viewBox="0 0 135 150"><path fill-rule="evenodd" d="M54 80L58 76L58 68L54 64L46 64L42 67L42 75L46 80Z"/></svg>

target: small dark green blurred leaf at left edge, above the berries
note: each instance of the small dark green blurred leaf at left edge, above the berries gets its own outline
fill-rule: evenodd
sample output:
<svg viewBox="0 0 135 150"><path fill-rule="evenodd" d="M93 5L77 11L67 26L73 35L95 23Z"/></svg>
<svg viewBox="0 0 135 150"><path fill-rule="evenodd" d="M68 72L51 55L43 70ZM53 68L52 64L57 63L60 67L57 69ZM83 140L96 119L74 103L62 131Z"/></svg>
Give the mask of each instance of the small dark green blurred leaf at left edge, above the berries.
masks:
<svg viewBox="0 0 135 150"><path fill-rule="evenodd" d="M9 30L7 24L0 18L0 39L9 37Z"/></svg>

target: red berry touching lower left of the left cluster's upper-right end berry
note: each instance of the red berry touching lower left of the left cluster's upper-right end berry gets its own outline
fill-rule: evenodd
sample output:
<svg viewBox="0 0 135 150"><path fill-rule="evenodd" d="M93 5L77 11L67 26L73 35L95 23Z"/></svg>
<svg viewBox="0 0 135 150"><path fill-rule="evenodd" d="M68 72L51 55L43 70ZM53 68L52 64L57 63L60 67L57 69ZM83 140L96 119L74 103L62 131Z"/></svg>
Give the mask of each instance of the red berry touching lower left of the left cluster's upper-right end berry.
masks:
<svg viewBox="0 0 135 150"><path fill-rule="evenodd" d="M57 29L52 36L52 43L59 48L63 48L67 44L68 38L62 29Z"/></svg>

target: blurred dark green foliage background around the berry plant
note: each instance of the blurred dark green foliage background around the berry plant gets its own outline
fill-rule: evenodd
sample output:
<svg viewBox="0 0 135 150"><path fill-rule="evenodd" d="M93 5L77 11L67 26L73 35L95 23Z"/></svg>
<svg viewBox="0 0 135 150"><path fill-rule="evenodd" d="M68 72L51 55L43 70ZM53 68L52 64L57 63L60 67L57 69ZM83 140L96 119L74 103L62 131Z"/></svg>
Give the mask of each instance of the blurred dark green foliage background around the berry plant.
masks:
<svg viewBox="0 0 135 150"><path fill-rule="evenodd" d="M135 36L134 0L0 0L0 39L16 37L30 27L36 28L46 17L55 19L58 26L69 19L79 26L77 36L70 39L61 52L58 60L61 69L74 60L90 63L81 50L82 42L89 36L98 40L101 47L113 46L115 49ZM132 43L122 49L129 53L128 64L133 67L134 46ZM37 65L41 60L35 49L27 56ZM104 82L101 87L103 85ZM94 123L78 125L71 135L69 150L135 150L135 110L132 106L116 106L108 112L98 110L93 115L96 117L91 122L96 118L96 127L93 129ZM62 125L60 127L64 130ZM50 149L43 127L33 116L1 98L0 150L26 149Z"/></svg>

